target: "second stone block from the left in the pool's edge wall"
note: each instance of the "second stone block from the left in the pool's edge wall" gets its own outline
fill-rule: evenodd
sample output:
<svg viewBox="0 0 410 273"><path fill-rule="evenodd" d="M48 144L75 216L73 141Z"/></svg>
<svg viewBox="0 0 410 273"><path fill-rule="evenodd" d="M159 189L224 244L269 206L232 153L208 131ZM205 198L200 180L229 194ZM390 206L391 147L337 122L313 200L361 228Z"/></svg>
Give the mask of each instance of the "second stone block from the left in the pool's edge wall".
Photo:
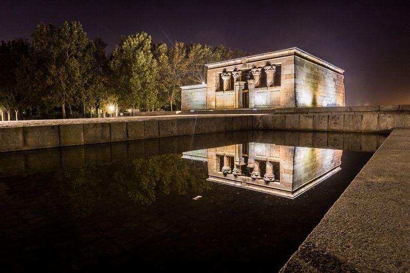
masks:
<svg viewBox="0 0 410 273"><path fill-rule="evenodd" d="M58 133L57 125L24 127L24 146L26 149L58 147Z"/></svg>

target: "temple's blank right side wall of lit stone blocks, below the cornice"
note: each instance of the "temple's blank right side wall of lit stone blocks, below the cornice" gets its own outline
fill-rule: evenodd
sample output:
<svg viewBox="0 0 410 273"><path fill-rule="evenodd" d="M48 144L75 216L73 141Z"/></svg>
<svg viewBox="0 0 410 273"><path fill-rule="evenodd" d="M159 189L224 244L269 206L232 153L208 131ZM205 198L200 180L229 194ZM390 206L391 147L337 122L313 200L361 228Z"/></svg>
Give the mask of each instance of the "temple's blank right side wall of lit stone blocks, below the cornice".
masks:
<svg viewBox="0 0 410 273"><path fill-rule="evenodd" d="M344 106L343 75L295 56L296 107Z"/></svg>

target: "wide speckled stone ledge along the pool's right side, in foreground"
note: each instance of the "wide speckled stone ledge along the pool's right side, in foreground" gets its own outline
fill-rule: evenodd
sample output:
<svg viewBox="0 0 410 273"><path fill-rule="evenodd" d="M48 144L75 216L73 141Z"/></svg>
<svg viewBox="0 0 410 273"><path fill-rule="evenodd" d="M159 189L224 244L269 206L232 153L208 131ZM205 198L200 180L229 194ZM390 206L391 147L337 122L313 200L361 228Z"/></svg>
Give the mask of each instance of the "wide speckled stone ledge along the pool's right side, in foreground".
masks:
<svg viewBox="0 0 410 273"><path fill-rule="evenodd" d="M409 153L395 129L281 272L408 272Z"/></svg>

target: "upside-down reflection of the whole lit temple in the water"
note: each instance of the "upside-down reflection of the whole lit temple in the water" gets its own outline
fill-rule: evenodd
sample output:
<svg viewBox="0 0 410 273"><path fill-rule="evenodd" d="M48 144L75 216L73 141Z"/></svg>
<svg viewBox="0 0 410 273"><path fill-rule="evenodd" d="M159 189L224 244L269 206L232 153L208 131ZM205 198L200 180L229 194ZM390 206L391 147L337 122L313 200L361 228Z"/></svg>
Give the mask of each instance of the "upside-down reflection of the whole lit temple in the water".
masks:
<svg viewBox="0 0 410 273"><path fill-rule="evenodd" d="M341 170L341 150L249 142L183 153L208 162L208 181L295 198Z"/></svg>

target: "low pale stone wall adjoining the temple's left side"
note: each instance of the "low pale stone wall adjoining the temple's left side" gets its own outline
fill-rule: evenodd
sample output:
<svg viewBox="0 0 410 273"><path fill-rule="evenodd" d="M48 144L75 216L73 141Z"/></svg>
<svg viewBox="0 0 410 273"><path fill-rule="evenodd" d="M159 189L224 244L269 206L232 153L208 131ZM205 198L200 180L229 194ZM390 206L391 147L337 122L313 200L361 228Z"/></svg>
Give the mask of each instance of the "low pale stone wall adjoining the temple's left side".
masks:
<svg viewBox="0 0 410 273"><path fill-rule="evenodd" d="M205 85L181 87L181 110L205 110L207 101L207 88Z"/></svg>

